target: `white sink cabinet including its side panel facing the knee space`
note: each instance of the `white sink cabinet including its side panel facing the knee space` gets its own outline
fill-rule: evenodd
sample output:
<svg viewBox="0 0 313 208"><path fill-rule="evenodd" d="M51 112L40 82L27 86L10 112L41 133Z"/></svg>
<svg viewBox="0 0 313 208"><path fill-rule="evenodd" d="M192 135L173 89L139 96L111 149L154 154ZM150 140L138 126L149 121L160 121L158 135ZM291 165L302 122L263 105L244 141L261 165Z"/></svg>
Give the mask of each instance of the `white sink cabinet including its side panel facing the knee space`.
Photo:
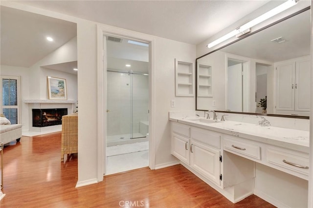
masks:
<svg viewBox="0 0 313 208"><path fill-rule="evenodd" d="M254 162L223 152L224 134L171 122L171 151L183 166L236 203L253 193Z"/></svg>

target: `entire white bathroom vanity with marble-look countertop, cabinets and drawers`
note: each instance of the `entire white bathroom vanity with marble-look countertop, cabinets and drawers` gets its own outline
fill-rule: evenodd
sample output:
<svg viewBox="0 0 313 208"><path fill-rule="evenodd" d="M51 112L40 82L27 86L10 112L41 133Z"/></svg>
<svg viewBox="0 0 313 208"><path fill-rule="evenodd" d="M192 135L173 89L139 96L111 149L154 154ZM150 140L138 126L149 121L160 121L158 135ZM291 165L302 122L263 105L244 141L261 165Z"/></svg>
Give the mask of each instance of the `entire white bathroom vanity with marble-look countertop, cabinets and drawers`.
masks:
<svg viewBox="0 0 313 208"><path fill-rule="evenodd" d="M172 154L231 202L255 194L278 207L307 206L302 192L309 175L309 131L215 121L196 113L169 117ZM296 191L289 192L291 181ZM272 186L279 187L277 195L260 191ZM291 197L294 204L286 199Z"/></svg>

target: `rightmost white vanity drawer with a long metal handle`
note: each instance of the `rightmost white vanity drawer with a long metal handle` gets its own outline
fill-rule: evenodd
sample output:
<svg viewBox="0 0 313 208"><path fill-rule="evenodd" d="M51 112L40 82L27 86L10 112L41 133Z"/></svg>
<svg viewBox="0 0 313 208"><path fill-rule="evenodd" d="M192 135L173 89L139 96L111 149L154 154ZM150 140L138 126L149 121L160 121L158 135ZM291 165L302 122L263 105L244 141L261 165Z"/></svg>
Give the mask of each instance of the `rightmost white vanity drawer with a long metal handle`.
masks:
<svg viewBox="0 0 313 208"><path fill-rule="evenodd" d="M267 162L282 167L283 171L287 170L286 172L289 173L292 171L309 175L309 154L304 155L287 149L267 148Z"/></svg>

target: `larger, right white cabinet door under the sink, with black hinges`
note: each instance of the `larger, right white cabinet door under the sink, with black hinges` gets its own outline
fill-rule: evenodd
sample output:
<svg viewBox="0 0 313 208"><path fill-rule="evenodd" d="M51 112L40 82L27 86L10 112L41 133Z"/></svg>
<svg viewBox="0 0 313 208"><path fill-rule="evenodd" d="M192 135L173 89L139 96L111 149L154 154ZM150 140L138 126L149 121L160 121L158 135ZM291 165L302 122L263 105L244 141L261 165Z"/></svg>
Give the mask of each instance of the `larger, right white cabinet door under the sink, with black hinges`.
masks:
<svg viewBox="0 0 313 208"><path fill-rule="evenodd" d="M192 140L190 145L190 166L207 179L220 185L220 150Z"/></svg>

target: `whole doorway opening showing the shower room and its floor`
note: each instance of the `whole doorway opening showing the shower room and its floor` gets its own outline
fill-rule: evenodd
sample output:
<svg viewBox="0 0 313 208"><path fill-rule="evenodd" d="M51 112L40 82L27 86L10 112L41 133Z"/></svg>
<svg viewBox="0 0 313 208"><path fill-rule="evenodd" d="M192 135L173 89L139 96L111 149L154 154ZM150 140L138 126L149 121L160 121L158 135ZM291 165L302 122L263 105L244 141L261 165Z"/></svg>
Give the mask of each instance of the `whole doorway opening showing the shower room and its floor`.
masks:
<svg viewBox="0 0 313 208"><path fill-rule="evenodd" d="M149 44L105 38L109 175L149 166Z"/></svg>

